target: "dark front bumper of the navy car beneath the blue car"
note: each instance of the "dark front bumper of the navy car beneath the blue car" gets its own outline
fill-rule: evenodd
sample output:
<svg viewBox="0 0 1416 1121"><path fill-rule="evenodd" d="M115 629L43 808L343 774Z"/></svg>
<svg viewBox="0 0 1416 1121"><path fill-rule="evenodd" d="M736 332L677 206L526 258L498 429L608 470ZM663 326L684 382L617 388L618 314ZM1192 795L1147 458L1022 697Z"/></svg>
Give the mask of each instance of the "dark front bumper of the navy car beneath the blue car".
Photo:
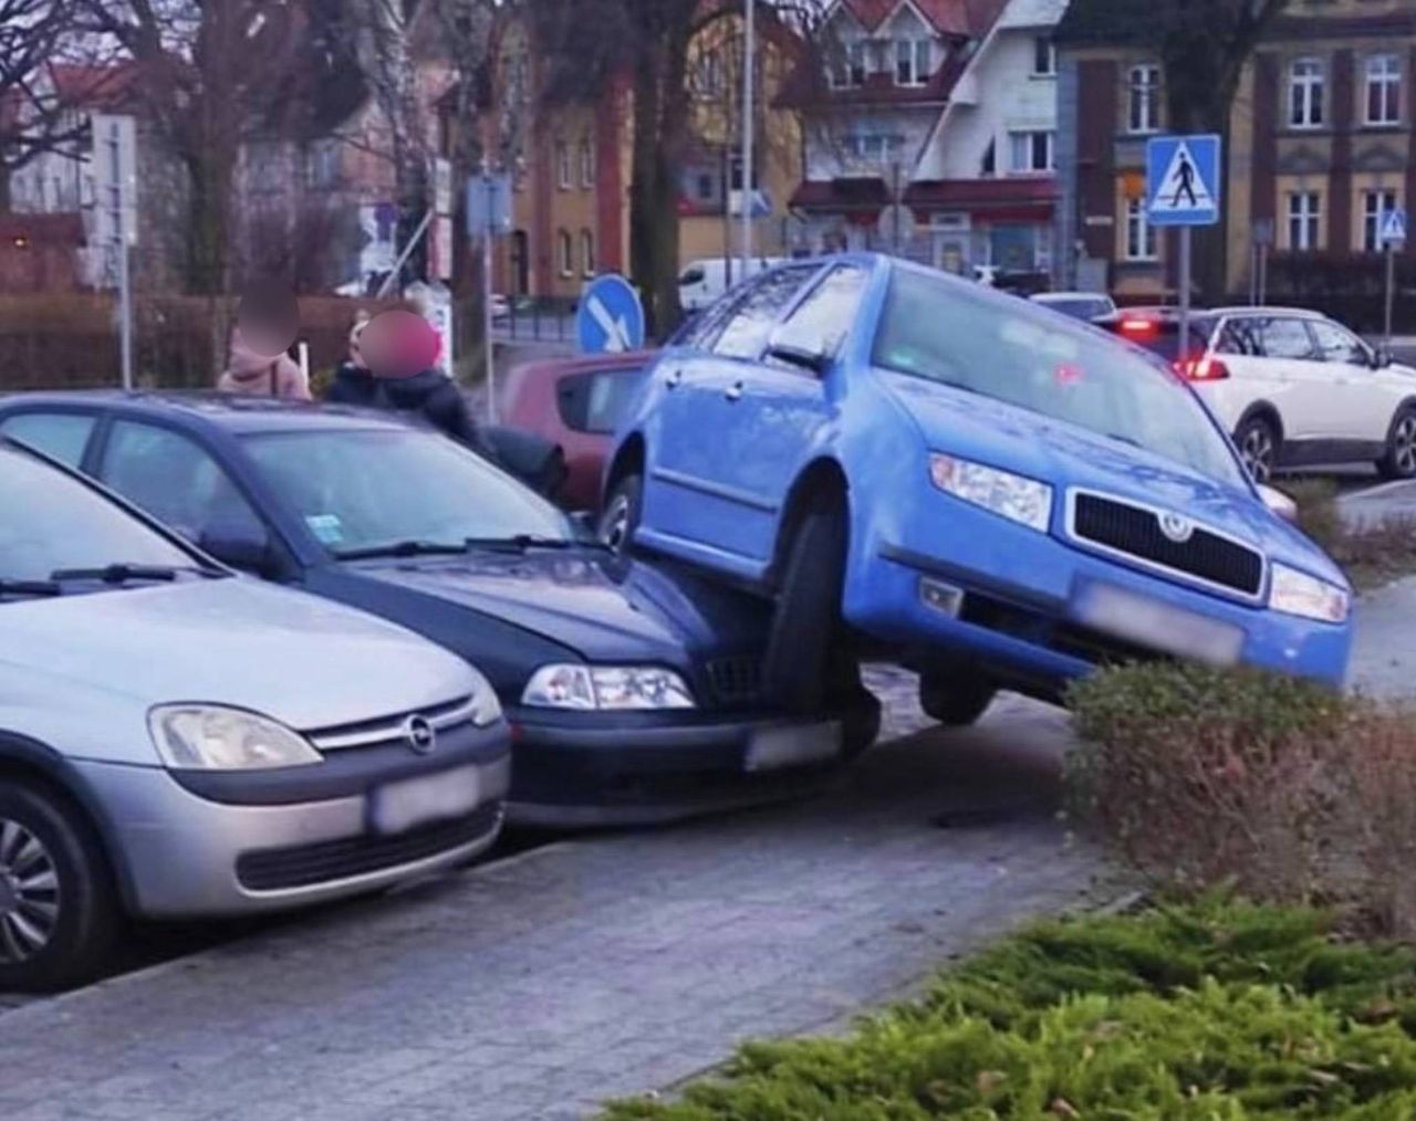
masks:
<svg viewBox="0 0 1416 1121"><path fill-rule="evenodd" d="M864 692L818 723L750 713L507 716L515 760L507 817L545 828L661 824L800 795L879 730L879 703ZM790 746L782 754L762 745Z"/></svg>

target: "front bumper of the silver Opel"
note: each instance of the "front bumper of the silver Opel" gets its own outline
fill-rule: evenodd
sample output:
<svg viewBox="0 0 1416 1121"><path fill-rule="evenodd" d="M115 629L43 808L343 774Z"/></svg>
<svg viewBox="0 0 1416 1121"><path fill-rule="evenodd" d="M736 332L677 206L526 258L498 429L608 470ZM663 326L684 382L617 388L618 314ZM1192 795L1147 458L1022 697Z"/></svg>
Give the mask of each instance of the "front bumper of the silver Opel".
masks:
<svg viewBox="0 0 1416 1121"><path fill-rule="evenodd" d="M235 803L229 791L224 801L193 793L159 767L75 766L108 810L112 856L136 914L255 914L375 890L490 848L511 771L506 729L494 735L500 749L490 757L428 760L416 776L476 769L472 810L387 835L370 824L372 791L384 778L312 801L272 800L266 791Z"/></svg>

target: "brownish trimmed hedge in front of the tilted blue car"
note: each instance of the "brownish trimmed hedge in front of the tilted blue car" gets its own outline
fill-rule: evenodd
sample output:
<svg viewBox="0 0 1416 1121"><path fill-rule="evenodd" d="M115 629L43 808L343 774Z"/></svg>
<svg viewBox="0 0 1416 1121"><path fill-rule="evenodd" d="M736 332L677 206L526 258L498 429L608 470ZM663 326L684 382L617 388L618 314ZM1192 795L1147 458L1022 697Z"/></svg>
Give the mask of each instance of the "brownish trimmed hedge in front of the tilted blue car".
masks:
<svg viewBox="0 0 1416 1121"><path fill-rule="evenodd" d="M1257 669L1171 664L1104 671L1069 703L1072 810L1157 882L1232 883L1416 936L1413 713Z"/></svg>

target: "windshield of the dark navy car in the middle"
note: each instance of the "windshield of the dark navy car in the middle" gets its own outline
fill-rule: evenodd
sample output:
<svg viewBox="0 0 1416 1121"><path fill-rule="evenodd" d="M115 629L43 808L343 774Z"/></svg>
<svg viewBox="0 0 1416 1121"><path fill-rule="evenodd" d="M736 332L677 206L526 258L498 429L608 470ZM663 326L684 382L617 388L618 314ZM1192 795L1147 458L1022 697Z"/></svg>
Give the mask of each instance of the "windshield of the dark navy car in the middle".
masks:
<svg viewBox="0 0 1416 1121"><path fill-rule="evenodd" d="M399 542L568 541L561 511L460 444L429 432L252 433L266 484L334 556Z"/></svg>

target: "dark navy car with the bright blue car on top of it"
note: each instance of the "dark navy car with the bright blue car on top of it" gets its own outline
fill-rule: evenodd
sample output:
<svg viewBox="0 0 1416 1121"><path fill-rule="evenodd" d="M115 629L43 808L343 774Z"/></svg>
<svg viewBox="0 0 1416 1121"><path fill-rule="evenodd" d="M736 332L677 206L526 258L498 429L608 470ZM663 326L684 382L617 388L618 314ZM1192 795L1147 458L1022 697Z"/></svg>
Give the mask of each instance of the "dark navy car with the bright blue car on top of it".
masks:
<svg viewBox="0 0 1416 1121"><path fill-rule="evenodd" d="M633 824L765 800L877 735L852 665L833 705L789 716L762 695L758 604L615 556L415 425L252 398L35 393L0 402L0 433L234 568L401 623L481 669L511 723L513 821Z"/></svg>

